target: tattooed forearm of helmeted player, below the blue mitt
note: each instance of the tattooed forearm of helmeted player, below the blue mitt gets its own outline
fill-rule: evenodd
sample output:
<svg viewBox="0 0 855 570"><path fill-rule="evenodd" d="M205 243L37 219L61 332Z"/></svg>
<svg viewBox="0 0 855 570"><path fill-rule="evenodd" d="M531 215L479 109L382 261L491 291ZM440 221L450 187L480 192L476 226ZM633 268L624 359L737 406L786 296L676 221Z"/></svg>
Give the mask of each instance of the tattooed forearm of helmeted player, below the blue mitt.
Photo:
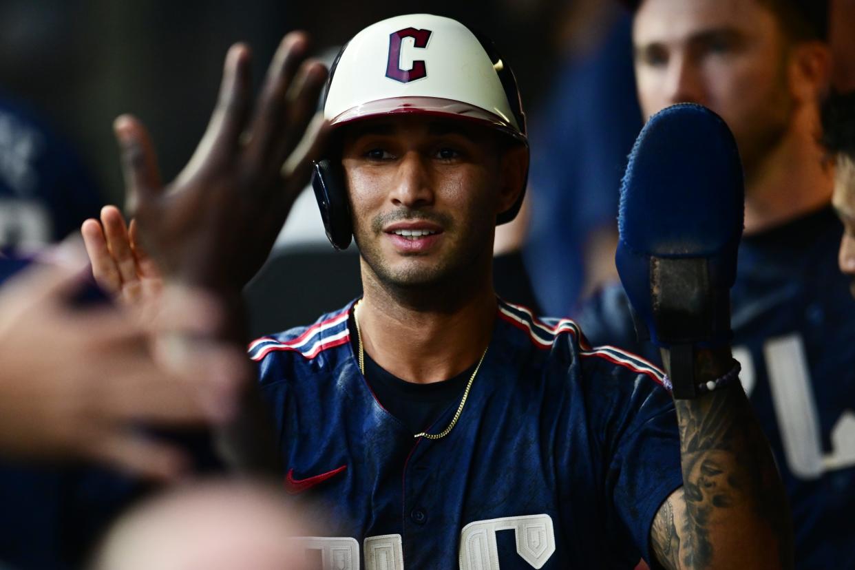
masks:
<svg viewBox="0 0 855 570"><path fill-rule="evenodd" d="M696 378L720 377L731 363L729 350L701 351ZM675 407L683 489L654 523L660 561L675 568L792 567L787 497L741 386L675 400Z"/></svg>

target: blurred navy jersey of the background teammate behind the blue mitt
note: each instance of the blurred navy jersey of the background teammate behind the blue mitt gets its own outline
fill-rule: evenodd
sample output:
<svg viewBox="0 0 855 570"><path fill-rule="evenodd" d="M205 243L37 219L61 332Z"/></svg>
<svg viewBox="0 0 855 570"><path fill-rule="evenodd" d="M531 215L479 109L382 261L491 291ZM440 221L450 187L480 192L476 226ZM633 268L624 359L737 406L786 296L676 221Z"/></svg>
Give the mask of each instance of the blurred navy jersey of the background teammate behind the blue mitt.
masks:
<svg viewBox="0 0 855 570"><path fill-rule="evenodd" d="M740 378L775 452L802 568L855 568L855 300L837 267L842 226L823 209L743 239L731 291ZM588 338L635 342L619 285L579 315Z"/></svg>

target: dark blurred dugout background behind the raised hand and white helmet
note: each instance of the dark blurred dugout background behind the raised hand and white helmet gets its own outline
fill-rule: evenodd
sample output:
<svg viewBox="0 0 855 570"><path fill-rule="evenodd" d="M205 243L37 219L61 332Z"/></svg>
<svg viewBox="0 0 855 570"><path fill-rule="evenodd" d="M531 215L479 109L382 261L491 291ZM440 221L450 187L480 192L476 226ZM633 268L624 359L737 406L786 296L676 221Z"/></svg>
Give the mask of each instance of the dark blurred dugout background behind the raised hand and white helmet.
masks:
<svg viewBox="0 0 855 570"><path fill-rule="evenodd" d="M259 85L290 30L309 31L321 56L392 15L448 15L493 38L516 72L531 117L570 40L584 44L596 33L588 15L598 9L597 0L4 0L0 92L56 126L84 157L107 202L121 204L112 120L125 112L139 116L155 140L163 179L174 178L204 130L233 42L251 44ZM256 334L311 322L359 291L355 248L279 251L271 265L248 290Z"/></svg>

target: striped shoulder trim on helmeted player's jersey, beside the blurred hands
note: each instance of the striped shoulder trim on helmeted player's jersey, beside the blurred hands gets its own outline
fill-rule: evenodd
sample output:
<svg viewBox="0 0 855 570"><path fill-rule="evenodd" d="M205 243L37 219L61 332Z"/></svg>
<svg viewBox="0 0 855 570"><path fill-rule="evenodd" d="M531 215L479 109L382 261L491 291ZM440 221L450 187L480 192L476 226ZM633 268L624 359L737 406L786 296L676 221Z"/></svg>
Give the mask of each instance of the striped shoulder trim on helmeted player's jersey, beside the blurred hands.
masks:
<svg viewBox="0 0 855 570"><path fill-rule="evenodd" d="M326 315L312 326L292 329L292 331L283 332L277 337L258 338L250 344L250 358L253 361L261 361L271 352L288 350L298 352L310 360L324 350L347 344L351 340L347 327L350 309L351 305L349 304L339 313Z"/></svg>

